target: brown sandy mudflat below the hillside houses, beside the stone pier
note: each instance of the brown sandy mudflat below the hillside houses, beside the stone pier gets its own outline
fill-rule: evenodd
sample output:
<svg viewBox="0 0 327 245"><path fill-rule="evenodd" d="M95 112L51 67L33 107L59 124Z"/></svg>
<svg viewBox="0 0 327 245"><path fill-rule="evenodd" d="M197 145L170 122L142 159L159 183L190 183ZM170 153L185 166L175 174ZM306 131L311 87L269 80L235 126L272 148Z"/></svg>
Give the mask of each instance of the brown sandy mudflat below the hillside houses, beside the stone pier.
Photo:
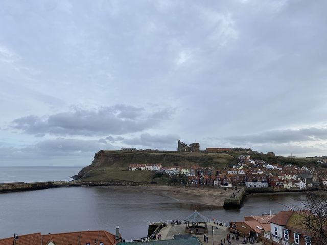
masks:
<svg viewBox="0 0 327 245"><path fill-rule="evenodd" d="M193 188L173 187L165 185L143 185L143 186L107 186L122 191L148 193L175 199L181 203L202 204L222 208L224 200L233 192L225 188Z"/></svg>

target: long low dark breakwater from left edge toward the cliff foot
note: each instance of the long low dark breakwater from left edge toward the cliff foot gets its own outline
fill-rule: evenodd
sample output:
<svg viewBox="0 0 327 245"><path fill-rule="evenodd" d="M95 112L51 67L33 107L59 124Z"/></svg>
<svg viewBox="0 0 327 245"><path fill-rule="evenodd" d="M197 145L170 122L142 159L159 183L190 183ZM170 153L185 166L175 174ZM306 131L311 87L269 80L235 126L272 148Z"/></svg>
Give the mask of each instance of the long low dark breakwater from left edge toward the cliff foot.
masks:
<svg viewBox="0 0 327 245"><path fill-rule="evenodd" d="M1 183L0 193L41 190L41 189L68 187L68 186L81 186L81 185L76 183L66 182L66 181L46 181L46 182L33 182L33 183L11 182L11 183Z"/></svg>

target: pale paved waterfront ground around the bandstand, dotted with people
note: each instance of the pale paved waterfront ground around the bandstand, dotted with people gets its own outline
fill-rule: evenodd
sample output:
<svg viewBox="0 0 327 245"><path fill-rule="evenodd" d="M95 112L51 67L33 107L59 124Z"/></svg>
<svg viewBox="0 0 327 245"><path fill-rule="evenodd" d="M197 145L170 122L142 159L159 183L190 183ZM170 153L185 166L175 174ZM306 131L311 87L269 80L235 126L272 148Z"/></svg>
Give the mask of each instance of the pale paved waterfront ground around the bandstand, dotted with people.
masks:
<svg viewBox="0 0 327 245"><path fill-rule="evenodd" d="M192 236L197 236L199 240L202 242L202 244L220 245L220 240L222 240L224 244L224 238L226 238L226 235L228 234L227 227L217 226L214 223L208 223L207 227L208 227L208 233L205 235L209 237L208 242L204 242L204 235L192 235ZM179 234L182 235L188 233L185 232L184 224L181 224L179 226L178 225L172 226L171 224L168 224L166 227L160 230L159 234L161 234L161 240L170 240L173 239L173 235L179 235ZM241 241L242 241L241 238L239 239L238 242L236 240L231 240L231 244L240 245ZM228 245L227 240L226 240L226 244ZM256 244L262 244L262 243L256 243Z"/></svg>

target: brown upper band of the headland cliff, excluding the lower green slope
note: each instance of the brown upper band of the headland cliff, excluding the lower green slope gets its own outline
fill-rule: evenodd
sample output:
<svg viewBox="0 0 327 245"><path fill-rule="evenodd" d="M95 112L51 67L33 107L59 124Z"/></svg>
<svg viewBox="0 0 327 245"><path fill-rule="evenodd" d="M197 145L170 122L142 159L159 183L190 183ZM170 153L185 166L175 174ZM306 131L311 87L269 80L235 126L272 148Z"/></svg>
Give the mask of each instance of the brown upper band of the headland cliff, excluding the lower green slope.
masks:
<svg viewBox="0 0 327 245"><path fill-rule="evenodd" d="M181 153L181 152L128 152L101 150L94 156L91 165L84 167L77 178L82 178L88 171L100 167L126 167L129 164L158 163L162 166L200 166L222 167L230 163L233 157L216 153Z"/></svg>

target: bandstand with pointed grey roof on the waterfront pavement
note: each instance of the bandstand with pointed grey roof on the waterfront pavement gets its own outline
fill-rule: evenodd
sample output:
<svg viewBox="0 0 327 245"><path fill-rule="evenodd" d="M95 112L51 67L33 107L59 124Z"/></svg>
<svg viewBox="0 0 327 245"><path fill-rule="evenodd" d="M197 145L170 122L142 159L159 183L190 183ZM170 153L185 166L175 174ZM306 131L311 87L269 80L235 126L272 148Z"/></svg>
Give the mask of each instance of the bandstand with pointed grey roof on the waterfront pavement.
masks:
<svg viewBox="0 0 327 245"><path fill-rule="evenodd" d="M186 224L185 232L191 234L206 234L208 232L207 222L208 218L204 215L198 213L196 210L190 216L184 219ZM203 225L199 225L199 223L203 223Z"/></svg>

